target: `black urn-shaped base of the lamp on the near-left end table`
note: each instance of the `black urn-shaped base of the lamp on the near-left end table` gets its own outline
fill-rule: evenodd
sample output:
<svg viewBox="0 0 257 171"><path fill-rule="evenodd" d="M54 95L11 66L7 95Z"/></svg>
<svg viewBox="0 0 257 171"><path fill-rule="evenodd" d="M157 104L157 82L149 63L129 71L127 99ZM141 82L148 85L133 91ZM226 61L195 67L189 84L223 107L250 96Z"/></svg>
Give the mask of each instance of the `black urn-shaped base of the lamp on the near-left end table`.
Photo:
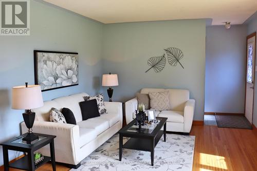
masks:
<svg viewBox="0 0 257 171"><path fill-rule="evenodd" d="M34 120L35 120L35 112L32 112L31 110L26 110L25 113L22 113L22 116L28 128L28 134L22 140L26 141L27 144L30 144L32 141L39 139L39 136L34 135L31 129L33 127Z"/></svg>

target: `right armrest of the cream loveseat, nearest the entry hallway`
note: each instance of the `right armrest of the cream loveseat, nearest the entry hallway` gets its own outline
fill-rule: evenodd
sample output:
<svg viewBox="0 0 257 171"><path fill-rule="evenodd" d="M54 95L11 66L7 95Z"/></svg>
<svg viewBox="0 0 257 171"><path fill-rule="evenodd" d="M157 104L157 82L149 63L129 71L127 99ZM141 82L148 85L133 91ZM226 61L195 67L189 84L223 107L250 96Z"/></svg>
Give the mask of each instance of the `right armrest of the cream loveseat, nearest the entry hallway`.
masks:
<svg viewBox="0 0 257 171"><path fill-rule="evenodd" d="M184 108L184 132L190 132L194 118L195 100L189 99Z"/></svg>

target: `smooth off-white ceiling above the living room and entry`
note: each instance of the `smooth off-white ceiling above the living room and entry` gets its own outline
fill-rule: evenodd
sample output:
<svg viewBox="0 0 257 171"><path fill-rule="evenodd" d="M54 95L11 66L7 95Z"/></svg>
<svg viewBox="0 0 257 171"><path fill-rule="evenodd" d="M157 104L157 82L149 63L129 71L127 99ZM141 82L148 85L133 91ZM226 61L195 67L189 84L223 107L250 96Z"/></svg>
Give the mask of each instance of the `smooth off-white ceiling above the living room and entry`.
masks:
<svg viewBox="0 0 257 171"><path fill-rule="evenodd" d="M243 24L257 0L44 0L102 23L212 18Z"/></svg>

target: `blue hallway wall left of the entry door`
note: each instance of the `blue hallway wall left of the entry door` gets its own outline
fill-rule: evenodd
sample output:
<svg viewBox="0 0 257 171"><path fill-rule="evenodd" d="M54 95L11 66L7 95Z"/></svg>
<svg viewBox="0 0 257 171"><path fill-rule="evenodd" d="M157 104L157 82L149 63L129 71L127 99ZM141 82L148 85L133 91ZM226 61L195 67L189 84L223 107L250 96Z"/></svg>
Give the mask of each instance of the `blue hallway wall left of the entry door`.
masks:
<svg viewBox="0 0 257 171"><path fill-rule="evenodd" d="M206 28L205 111L244 113L245 25Z"/></svg>

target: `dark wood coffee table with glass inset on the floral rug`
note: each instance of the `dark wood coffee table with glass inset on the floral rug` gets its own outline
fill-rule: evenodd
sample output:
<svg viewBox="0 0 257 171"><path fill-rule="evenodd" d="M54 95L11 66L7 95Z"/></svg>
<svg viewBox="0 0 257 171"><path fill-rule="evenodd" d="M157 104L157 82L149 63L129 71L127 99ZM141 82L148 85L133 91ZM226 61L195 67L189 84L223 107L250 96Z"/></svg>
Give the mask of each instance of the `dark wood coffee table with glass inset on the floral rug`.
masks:
<svg viewBox="0 0 257 171"><path fill-rule="evenodd" d="M151 128L149 128L149 125L146 126L146 128L141 128L141 131L139 131L138 126L134 125L136 123L136 120L133 120L118 131L120 135L120 161L122 158L122 148L127 148L141 151L150 151L151 165L154 165L154 148L159 142L162 135L164 137L164 142L166 142L166 122L168 118L157 117L156 119L160 120L160 122L157 124L152 124ZM161 130L162 126L163 130ZM130 139L125 144L123 144L123 137L130 137Z"/></svg>

